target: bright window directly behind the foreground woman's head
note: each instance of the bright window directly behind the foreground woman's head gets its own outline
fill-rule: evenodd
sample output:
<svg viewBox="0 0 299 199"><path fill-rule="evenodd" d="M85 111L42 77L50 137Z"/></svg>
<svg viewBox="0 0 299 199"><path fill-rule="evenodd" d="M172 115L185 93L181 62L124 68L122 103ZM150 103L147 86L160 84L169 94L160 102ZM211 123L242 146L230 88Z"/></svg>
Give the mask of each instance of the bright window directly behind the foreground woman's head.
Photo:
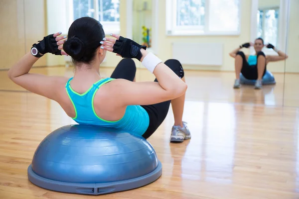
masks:
<svg viewBox="0 0 299 199"><path fill-rule="evenodd" d="M120 0L72 0L71 21L90 16L104 27L105 33L120 32Z"/></svg>

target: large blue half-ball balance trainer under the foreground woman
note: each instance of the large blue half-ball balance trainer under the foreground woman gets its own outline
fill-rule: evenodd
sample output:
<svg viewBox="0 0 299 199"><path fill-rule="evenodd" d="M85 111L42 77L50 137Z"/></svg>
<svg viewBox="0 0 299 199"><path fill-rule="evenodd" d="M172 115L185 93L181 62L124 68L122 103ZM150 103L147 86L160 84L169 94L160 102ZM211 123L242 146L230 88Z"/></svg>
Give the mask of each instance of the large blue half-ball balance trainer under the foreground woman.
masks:
<svg viewBox="0 0 299 199"><path fill-rule="evenodd" d="M162 166L142 136L116 129L68 125L37 147L28 179L53 191L99 195L145 186Z"/></svg>

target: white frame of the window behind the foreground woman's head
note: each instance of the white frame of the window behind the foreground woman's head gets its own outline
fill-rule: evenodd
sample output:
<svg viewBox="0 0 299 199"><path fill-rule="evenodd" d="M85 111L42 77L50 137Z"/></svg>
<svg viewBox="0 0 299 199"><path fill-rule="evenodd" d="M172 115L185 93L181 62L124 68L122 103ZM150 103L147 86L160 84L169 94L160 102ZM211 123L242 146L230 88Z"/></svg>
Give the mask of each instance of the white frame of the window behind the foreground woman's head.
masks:
<svg viewBox="0 0 299 199"><path fill-rule="evenodd" d="M93 18L96 20L100 21L99 17L99 1L98 0L93 0L94 1L94 11L93 11ZM68 0L69 3L69 26L72 24L74 21L74 6L73 6L73 0ZM121 3L121 0L120 0ZM115 33L115 34L120 34L121 31L121 24L120 21L100 21L101 24L103 25L105 34L108 35L110 33Z"/></svg>

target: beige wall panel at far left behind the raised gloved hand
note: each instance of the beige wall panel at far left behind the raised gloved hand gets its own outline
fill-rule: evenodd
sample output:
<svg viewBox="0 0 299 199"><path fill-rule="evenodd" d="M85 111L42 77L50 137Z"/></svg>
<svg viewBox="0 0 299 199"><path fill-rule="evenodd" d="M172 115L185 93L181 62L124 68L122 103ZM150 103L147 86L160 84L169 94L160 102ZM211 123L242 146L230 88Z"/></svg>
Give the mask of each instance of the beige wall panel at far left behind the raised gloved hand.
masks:
<svg viewBox="0 0 299 199"><path fill-rule="evenodd" d="M0 69L8 69L45 36L43 0L0 0ZM45 66L46 57L34 66Z"/></svg>

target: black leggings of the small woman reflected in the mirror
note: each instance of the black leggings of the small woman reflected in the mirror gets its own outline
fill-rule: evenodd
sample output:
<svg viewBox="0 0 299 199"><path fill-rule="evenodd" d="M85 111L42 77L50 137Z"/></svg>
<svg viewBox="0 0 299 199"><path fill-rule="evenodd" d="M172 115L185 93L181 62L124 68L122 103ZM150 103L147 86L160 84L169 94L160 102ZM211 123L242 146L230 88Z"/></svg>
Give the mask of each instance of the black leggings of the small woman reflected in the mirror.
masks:
<svg viewBox="0 0 299 199"><path fill-rule="evenodd" d="M240 55L243 58L243 65L242 65L242 70L241 73L242 75L247 79L247 80L257 80L258 79L258 66L257 65L253 65L250 66L246 60L246 56L242 51L239 51L237 53L237 55ZM257 59L259 56L265 56L265 54L263 52L258 52L257 55ZM265 66L265 70L264 70L264 74L266 73L266 68L267 66Z"/></svg>

